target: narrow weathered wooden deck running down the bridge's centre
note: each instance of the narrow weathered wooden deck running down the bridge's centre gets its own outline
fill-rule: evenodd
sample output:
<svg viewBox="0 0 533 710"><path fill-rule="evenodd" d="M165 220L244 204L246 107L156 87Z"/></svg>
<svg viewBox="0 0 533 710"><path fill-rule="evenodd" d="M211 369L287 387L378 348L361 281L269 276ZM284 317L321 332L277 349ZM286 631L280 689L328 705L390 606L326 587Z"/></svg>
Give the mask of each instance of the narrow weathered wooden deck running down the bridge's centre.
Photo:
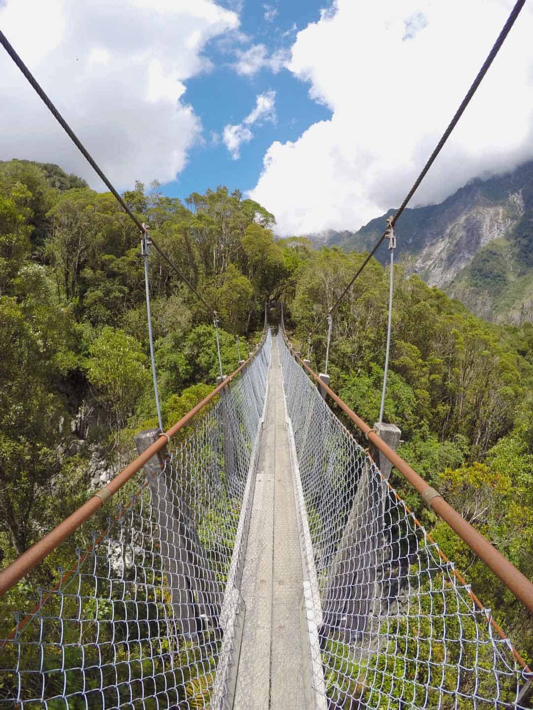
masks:
<svg viewBox="0 0 533 710"><path fill-rule="evenodd" d="M246 613L235 709L305 708L306 650L295 613L303 567L276 339L241 594Z"/></svg>

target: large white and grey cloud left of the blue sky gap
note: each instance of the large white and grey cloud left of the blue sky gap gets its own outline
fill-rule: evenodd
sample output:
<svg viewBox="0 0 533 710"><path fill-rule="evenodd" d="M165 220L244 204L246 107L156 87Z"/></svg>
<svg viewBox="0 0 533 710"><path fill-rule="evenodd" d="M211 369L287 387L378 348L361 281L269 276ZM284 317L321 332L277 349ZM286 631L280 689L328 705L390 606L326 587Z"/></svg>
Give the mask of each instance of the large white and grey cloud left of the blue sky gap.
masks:
<svg viewBox="0 0 533 710"><path fill-rule="evenodd" d="M28 17L31 22L28 22ZM9 0L0 24L119 189L173 180L201 141L185 82L208 70L208 40L237 15L212 0ZM101 189L11 59L0 55L0 159L59 163Z"/></svg>

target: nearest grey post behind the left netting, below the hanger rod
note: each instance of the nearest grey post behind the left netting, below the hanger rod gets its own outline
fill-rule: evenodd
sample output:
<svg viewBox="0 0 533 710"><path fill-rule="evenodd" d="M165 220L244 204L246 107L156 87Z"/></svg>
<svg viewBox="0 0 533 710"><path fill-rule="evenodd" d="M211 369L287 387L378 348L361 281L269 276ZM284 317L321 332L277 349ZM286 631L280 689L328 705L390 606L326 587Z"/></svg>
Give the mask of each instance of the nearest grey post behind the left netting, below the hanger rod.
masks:
<svg viewBox="0 0 533 710"><path fill-rule="evenodd" d="M135 446L142 454L159 439L159 430L149 429L135 435ZM169 480L163 472L168 457L167 447L145 464L145 474L151 493L151 507L159 528L162 571L167 573L174 619L181 633L198 633L206 621L217 626L220 613L218 584L211 570L206 569L206 553L194 528L193 515L181 488L179 476ZM196 575L196 577L195 577ZM194 595L196 594L196 601Z"/></svg>

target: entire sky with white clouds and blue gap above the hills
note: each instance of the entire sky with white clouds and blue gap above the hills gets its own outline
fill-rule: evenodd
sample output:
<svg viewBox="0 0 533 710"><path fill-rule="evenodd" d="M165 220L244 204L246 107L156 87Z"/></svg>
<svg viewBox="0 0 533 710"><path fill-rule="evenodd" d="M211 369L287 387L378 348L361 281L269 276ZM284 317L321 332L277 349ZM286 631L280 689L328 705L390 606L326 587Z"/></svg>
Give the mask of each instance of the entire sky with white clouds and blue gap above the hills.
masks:
<svg viewBox="0 0 533 710"><path fill-rule="evenodd" d="M513 4L0 0L0 26L118 190L226 185L308 234L400 204ZM533 158L532 36L530 2L410 206ZM0 77L0 160L103 190L6 53Z"/></svg>

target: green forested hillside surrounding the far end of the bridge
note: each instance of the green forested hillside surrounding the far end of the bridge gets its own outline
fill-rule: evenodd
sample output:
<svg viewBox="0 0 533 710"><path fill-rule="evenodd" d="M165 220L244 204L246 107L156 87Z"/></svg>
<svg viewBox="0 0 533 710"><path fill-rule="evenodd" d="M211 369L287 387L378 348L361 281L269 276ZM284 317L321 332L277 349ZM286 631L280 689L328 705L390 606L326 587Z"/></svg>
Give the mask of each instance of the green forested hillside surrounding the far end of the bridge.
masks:
<svg viewBox="0 0 533 710"><path fill-rule="evenodd" d="M182 203L157 183L148 191L138 183L125 200L249 344L262 329L264 302L284 300L293 340L306 351L308 331L362 258L337 247L314 251L305 239L276 241L274 216L223 187ZM110 194L57 166L0 164L2 566L105 483L133 454L133 432L156 423L139 255L140 235ZM206 309L154 250L150 280L169 426L213 387L215 335ZM332 387L370 423L387 297L388 273L373 260L334 319ZM325 331L312 341L318 369ZM221 344L232 371L235 339L222 332ZM532 344L531 324L489 324L417 275L396 271L385 418L402 430L400 454L529 577ZM509 633L520 628L519 650L531 657L532 623L520 605L402 480L394 484Z"/></svg>

